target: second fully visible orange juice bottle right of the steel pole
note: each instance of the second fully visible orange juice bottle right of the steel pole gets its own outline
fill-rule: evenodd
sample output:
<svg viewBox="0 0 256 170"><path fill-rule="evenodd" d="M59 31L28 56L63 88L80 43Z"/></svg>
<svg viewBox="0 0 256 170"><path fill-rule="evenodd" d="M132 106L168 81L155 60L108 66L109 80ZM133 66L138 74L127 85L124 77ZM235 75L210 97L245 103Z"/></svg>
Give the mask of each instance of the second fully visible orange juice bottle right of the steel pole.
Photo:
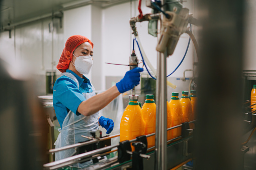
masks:
<svg viewBox="0 0 256 170"><path fill-rule="evenodd" d="M189 99L188 91L182 92L181 104L182 104L182 112L183 112L183 121L182 122L192 121L193 113L192 113L192 106L191 106L191 101Z"/></svg>

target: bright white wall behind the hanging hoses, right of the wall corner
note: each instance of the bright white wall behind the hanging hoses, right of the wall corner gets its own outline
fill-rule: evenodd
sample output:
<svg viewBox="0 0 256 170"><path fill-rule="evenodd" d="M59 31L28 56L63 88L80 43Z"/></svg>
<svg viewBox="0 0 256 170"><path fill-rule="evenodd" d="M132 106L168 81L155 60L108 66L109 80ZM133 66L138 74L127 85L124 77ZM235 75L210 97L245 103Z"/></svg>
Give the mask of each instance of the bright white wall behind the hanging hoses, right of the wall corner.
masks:
<svg viewBox="0 0 256 170"><path fill-rule="evenodd" d="M185 7L189 8L192 11L192 3L184 3ZM143 14L151 13L151 9L145 6L145 1L142 1L142 12ZM109 63L120 63L127 64L129 62L129 56L132 50L132 39L134 38L131 35L131 29L129 25L129 19L131 17L139 15L137 10L137 2L125 3L110 7L103 10L103 51L108 49L115 49L112 52L112 55L103 54L105 62ZM118 26L118 27L117 27ZM139 37L143 46L143 49L149 58L151 64L156 68L156 51L155 47L157 44L157 38L148 34L148 22L137 23L137 30ZM111 43L108 43L111 40ZM174 71L178 66L184 53L187 48L189 36L183 34L175 53L173 56L170 56L167 59L167 73ZM191 43L187 57L185 58L183 64L171 77L182 77L183 71L186 69L192 69L192 47ZM135 52L139 59L141 59L137 46L135 45ZM108 56L108 57L107 57ZM129 70L125 66L113 66L113 65L104 65L106 70L106 76L122 76L124 73ZM114 70L118 69L118 73ZM118 75L117 75L118 74ZM189 76L192 76L191 73L188 73Z"/></svg>

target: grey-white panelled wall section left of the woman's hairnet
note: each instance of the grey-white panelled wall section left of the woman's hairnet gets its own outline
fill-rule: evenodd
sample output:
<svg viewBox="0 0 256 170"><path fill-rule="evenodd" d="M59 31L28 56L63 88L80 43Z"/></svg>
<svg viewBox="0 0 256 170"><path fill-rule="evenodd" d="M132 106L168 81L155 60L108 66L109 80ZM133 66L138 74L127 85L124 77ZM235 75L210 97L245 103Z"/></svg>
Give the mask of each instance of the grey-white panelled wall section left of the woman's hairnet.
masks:
<svg viewBox="0 0 256 170"><path fill-rule="evenodd" d="M54 26L54 27L52 27ZM50 28L50 29L49 29ZM38 95L45 94L46 71L55 70L63 49L63 28L59 20L44 19L0 33L0 56L29 69Z"/></svg>

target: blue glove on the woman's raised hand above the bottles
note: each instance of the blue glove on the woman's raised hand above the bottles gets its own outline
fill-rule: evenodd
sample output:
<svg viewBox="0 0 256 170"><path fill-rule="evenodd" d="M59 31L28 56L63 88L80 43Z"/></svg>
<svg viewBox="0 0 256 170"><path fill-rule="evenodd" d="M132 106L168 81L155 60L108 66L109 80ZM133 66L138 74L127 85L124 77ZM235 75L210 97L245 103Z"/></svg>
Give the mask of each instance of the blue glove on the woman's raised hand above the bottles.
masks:
<svg viewBox="0 0 256 170"><path fill-rule="evenodd" d="M140 81L140 73L143 68L136 67L130 71L125 73L124 78L120 80L120 82L116 83L117 89L120 93L131 90L134 86L139 84Z"/></svg>

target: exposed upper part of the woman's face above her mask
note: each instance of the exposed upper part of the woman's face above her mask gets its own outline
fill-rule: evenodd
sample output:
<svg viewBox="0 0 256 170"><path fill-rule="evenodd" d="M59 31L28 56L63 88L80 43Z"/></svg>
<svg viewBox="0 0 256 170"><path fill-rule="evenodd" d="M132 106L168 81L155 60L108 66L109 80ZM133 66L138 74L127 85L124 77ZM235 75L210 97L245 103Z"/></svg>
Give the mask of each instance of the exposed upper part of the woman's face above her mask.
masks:
<svg viewBox="0 0 256 170"><path fill-rule="evenodd" d="M93 47L91 46L91 44L89 42L85 42L80 44L78 47L76 47L76 49L74 50L73 54L76 57L79 56L92 56L93 57ZM73 57L73 62L75 61L76 57Z"/></svg>

